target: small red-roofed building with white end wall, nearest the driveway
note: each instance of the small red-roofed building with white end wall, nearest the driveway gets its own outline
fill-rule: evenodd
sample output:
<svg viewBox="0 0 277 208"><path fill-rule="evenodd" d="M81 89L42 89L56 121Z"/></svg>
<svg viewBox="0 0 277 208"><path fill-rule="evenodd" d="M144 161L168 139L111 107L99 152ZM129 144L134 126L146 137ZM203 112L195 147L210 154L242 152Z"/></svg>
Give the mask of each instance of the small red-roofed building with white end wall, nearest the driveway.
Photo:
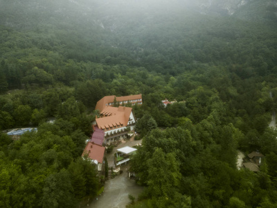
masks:
<svg viewBox="0 0 277 208"><path fill-rule="evenodd" d="M89 159L91 159L91 163L96 164L98 171L102 171L102 164L105 157L105 147L89 141L86 148L84 148L82 157L85 157L86 155Z"/></svg>

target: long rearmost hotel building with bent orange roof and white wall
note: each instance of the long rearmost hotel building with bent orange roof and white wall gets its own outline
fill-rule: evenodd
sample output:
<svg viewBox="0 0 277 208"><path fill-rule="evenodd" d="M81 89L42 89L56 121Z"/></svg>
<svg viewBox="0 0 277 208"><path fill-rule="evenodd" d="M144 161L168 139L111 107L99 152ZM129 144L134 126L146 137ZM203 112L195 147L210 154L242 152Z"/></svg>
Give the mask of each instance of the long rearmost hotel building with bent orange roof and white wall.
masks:
<svg viewBox="0 0 277 208"><path fill-rule="evenodd" d="M121 96L121 97L105 96L104 98L102 98L100 101L97 102L96 110L99 110L100 112L102 112L102 110L104 110L105 107L116 105L114 101L116 101L118 105L127 105L128 103L131 103L132 105L143 104L143 99L141 94L136 94L131 96Z"/></svg>

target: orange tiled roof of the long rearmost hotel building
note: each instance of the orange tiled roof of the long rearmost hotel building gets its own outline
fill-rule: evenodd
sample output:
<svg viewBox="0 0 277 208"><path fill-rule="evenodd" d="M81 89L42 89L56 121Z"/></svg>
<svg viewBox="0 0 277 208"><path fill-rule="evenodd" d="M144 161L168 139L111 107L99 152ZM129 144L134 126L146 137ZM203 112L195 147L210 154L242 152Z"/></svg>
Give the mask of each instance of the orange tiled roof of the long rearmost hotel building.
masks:
<svg viewBox="0 0 277 208"><path fill-rule="evenodd" d="M142 99L141 94L136 94L136 95L130 95L130 96L105 96L103 97L100 101L97 102L96 104L96 110L99 110L102 112L105 107L109 106L109 103L114 103L114 98L116 98L116 101L122 102L122 101L130 101L131 103L141 103L142 101L134 101L134 100L139 100ZM111 105L112 106L112 105Z"/></svg>

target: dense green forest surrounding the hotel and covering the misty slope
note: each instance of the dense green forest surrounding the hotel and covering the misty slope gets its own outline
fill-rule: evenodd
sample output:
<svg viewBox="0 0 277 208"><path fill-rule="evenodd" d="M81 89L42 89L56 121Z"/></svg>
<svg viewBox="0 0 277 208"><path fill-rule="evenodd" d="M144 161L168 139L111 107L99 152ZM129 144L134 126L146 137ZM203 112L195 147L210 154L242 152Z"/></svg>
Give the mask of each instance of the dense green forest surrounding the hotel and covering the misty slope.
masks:
<svg viewBox="0 0 277 208"><path fill-rule="evenodd" d="M97 196L104 178L81 158L94 108L130 94L138 206L277 207L276 2L205 2L0 0L0 207ZM265 155L260 172L238 170L238 150Z"/></svg>

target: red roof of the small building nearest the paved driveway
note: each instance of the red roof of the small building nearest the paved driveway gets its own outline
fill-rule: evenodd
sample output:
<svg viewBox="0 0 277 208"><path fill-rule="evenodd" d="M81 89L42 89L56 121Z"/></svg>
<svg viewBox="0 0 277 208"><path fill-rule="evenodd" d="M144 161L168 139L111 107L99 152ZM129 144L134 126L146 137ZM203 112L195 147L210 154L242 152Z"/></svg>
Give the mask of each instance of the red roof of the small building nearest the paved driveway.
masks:
<svg viewBox="0 0 277 208"><path fill-rule="evenodd" d="M88 154L90 159L97 160L99 163L103 163L103 158L105 155L105 147L100 146L98 144L93 144L93 142L89 141L87 146L84 148L84 152L82 153L82 157Z"/></svg>

